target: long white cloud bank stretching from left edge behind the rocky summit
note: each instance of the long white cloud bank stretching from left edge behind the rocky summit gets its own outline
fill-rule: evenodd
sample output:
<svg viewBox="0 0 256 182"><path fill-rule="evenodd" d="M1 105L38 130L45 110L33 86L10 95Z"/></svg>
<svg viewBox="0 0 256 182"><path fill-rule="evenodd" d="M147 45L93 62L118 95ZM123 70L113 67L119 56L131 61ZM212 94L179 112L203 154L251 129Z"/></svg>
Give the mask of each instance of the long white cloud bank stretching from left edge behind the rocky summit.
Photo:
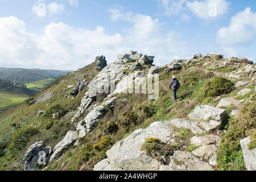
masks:
<svg viewBox="0 0 256 182"><path fill-rule="evenodd" d="M163 32L158 19L135 14L129 24L127 32L114 35L106 34L101 26L86 30L64 23L50 23L43 34L31 34L22 20L0 18L0 65L77 69L92 63L99 55L105 55L108 63L112 63L119 53L130 50L154 55L156 65L187 56L181 35Z"/></svg>

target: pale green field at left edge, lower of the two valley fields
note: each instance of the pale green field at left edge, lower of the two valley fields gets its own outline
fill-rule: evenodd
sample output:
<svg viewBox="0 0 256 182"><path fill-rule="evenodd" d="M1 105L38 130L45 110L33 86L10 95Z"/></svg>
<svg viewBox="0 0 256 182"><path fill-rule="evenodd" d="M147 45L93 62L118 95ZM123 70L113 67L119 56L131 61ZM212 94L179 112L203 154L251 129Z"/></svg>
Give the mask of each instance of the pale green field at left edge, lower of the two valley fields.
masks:
<svg viewBox="0 0 256 182"><path fill-rule="evenodd" d="M27 96L18 96L0 92L0 107L18 105L26 100Z"/></svg>

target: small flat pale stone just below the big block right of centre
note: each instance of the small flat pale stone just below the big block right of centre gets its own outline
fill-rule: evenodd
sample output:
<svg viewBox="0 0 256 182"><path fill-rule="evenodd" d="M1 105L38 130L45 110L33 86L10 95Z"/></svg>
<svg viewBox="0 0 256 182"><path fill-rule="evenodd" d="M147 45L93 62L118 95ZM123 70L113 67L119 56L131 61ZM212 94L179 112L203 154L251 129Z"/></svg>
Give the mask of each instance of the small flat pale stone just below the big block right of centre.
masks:
<svg viewBox="0 0 256 182"><path fill-rule="evenodd" d="M195 144L196 146L200 146L202 144L213 144L213 143L218 143L220 140L220 137L218 135L205 135L203 137L199 136L194 136L190 139L191 144Z"/></svg>

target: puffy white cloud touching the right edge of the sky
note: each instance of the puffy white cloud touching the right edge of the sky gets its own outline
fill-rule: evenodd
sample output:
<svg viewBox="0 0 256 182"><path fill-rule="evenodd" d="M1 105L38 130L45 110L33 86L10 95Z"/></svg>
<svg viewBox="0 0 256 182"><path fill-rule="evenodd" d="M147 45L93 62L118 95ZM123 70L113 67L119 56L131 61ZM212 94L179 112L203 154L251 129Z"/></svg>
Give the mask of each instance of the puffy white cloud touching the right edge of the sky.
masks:
<svg viewBox="0 0 256 182"><path fill-rule="evenodd" d="M228 27L217 32L217 43L222 45L252 42L256 38L256 13L250 7L234 15Z"/></svg>

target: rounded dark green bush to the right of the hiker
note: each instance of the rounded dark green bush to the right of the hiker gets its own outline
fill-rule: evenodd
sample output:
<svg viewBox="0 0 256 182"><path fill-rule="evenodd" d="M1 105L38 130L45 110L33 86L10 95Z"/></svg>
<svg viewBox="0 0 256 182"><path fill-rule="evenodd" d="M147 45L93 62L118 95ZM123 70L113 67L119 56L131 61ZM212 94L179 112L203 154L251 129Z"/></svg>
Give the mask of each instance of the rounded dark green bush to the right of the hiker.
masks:
<svg viewBox="0 0 256 182"><path fill-rule="evenodd" d="M233 83L224 78L216 77L205 83L205 86L200 90L199 98L202 101L205 97L215 97L221 94L228 94L234 88Z"/></svg>

